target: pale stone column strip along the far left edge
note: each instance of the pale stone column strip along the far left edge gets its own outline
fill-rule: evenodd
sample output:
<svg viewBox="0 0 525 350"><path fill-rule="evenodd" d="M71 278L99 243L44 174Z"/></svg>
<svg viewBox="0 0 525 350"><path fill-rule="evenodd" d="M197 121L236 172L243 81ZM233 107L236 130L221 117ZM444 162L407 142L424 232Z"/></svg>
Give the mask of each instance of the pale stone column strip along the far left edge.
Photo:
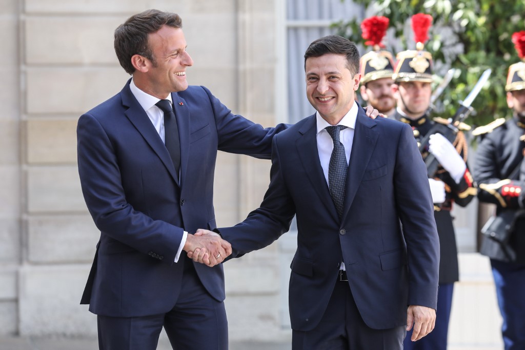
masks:
<svg viewBox="0 0 525 350"><path fill-rule="evenodd" d="M20 249L20 71L16 0L0 0L0 334L18 331Z"/></svg>

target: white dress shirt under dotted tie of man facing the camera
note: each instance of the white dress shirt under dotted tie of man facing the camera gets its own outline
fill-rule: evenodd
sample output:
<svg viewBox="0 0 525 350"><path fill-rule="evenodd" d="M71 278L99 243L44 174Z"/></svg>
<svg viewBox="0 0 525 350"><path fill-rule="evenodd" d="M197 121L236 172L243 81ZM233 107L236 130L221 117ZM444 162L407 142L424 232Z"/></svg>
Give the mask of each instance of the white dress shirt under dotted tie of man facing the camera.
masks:
<svg viewBox="0 0 525 350"><path fill-rule="evenodd" d="M344 146L346 164L350 162L350 152L352 152L352 143L354 141L355 119L358 117L358 105L354 102L352 108L341 119L338 125L343 125L346 129L339 132L339 140ZM317 120L317 151L319 152L319 161L323 168L324 179L328 182L328 164L333 151L333 139L325 129L330 126L328 121L324 120L319 112L316 113ZM344 262L341 262L341 270L346 270Z"/></svg>

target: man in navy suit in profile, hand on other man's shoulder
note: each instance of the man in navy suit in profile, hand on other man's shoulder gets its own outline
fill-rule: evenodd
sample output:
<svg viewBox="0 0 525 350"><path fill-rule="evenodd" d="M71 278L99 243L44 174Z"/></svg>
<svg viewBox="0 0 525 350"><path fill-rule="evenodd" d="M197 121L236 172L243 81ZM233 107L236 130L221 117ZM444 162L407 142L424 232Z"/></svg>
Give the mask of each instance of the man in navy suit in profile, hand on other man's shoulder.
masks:
<svg viewBox="0 0 525 350"><path fill-rule="evenodd" d="M181 252L206 248L212 263L230 254L227 242L188 233L216 227L217 150L269 159L286 126L264 129L188 87L176 14L130 17L115 48L132 79L78 121L82 192L101 231L81 303L98 315L101 349L155 349L163 326L174 348L227 349L222 265Z"/></svg>

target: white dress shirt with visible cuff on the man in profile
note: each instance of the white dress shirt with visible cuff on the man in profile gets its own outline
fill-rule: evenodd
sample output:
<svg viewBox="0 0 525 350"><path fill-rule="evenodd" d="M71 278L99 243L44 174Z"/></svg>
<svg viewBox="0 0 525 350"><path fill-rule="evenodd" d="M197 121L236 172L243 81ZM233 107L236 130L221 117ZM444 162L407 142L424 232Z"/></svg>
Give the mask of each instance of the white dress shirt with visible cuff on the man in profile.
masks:
<svg viewBox="0 0 525 350"><path fill-rule="evenodd" d="M155 106L155 104L159 102L160 99L146 94L144 91L139 89L137 85L135 85L133 79L131 79L130 90L133 96L135 96L135 98L137 99L137 101L139 101L141 107L146 111L146 114L148 115L148 117L151 120L151 123L153 124L153 127L155 128L157 133L159 133L162 142L165 143L166 138L164 134L164 112L162 111L162 109ZM169 100L173 104L173 101L171 100L171 94L168 94L165 100ZM181 256L184 244L186 244L187 236L188 233L184 231L182 235L181 245L178 247L177 255L175 255L175 262L177 262Z"/></svg>

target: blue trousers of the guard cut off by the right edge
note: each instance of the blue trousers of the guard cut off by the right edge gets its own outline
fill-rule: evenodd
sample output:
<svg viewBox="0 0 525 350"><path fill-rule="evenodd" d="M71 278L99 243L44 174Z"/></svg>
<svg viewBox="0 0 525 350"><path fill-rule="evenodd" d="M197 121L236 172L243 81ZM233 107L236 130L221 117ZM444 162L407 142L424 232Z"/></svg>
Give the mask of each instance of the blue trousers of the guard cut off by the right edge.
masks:
<svg viewBox="0 0 525 350"><path fill-rule="evenodd" d="M521 232L520 232L521 233ZM525 264L490 260L505 350L525 349Z"/></svg>

